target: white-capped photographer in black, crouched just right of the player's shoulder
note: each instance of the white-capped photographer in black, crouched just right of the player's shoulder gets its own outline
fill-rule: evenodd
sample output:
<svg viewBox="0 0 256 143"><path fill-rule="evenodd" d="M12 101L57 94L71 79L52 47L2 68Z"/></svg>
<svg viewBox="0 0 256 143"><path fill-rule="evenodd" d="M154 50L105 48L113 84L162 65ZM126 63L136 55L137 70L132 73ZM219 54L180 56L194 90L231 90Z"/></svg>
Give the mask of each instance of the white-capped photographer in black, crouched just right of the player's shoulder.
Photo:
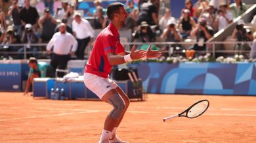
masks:
<svg viewBox="0 0 256 143"><path fill-rule="evenodd" d="M132 35L135 42L154 42L156 40L152 29L146 22L141 22Z"/></svg>

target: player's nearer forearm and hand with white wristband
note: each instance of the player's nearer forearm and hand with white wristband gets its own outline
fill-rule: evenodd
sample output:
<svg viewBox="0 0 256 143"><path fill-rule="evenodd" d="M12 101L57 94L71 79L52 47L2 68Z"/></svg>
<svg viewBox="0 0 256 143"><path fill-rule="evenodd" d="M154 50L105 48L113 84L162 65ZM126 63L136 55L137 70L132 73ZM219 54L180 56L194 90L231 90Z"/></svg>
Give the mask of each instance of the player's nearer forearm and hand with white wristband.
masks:
<svg viewBox="0 0 256 143"><path fill-rule="evenodd" d="M107 57L110 65L120 65L123 63L127 63L129 61L140 59L146 56L146 52L147 51L144 51L144 50L135 51L135 45L133 45L133 48L131 49L131 54L128 54L125 56L118 56L118 55L115 55L114 53L109 53Z"/></svg>

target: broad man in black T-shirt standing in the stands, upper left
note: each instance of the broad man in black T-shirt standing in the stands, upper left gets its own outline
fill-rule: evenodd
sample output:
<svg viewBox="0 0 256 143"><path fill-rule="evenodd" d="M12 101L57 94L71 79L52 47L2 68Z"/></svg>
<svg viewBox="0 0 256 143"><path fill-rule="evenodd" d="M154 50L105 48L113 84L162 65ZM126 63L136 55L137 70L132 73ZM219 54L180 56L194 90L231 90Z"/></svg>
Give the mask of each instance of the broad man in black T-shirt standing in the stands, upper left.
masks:
<svg viewBox="0 0 256 143"><path fill-rule="evenodd" d="M22 25L31 24L33 31L37 31L39 14L36 8L30 7L30 0L25 0L25 7L20 10L20 20Z"/></svg>

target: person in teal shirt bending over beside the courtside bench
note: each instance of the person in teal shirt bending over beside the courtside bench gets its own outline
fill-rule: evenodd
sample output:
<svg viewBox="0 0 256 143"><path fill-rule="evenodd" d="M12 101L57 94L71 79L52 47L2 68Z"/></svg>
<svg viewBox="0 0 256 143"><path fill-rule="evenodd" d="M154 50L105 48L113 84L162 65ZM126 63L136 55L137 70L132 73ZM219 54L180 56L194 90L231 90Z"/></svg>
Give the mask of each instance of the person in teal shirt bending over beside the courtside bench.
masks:
<svg viewBox="0 0 256 143"><path fill-rule="evenodd" d="M28 73L28 80L26 82L24 95L28 95L31 84L33 86L33 78L54 77L53 67L45 62L37 62L35 57L30 57L28 60L28 66L30 67L30 72Z"/></svg>

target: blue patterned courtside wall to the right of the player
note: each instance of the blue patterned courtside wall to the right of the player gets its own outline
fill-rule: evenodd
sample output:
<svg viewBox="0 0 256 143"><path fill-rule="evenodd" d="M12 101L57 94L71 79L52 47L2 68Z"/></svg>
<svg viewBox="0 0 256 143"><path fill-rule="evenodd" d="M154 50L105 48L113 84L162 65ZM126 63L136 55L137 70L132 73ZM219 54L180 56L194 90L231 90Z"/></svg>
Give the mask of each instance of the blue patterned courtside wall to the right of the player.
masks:
<svg viewBox="0 0 256 143"><path fill-rule="evenodd" d="M148 93L256 95L256 63L133 63Z"/></svg>

